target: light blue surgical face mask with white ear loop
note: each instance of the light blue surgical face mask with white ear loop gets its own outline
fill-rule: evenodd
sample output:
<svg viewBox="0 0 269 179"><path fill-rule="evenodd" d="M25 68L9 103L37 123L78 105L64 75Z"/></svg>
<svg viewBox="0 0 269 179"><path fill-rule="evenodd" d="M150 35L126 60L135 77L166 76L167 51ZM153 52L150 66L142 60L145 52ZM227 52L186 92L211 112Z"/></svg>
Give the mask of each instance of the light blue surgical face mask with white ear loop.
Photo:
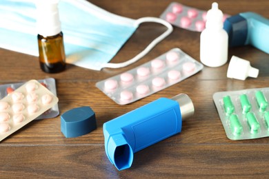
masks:
<svg viewBox="0 0 269 179"><path fill-rule="evenodd" d="M39 55L35 9L34 0L0 1L0 48ZM66 62L92 70L135 63L172 32L172 25L159 18L134 20L120 17L85 0L59 1L59 14ZM108 63L144 22L161 23L168 30L133 59L124 63Z"/></svg>

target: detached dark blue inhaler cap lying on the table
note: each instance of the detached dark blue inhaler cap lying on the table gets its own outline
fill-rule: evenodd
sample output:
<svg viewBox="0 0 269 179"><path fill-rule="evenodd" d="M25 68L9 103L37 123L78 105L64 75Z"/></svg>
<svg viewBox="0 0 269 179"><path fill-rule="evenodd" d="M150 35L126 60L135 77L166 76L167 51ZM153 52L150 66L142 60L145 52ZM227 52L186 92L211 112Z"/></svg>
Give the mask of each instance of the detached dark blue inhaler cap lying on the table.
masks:
<svg viewBox="0 0 269 179"><path fill-rule="evenodd" d="M96 128L95 114L90 107L77 107L61 115L61 132L66 138L83 136Z"/></svg>

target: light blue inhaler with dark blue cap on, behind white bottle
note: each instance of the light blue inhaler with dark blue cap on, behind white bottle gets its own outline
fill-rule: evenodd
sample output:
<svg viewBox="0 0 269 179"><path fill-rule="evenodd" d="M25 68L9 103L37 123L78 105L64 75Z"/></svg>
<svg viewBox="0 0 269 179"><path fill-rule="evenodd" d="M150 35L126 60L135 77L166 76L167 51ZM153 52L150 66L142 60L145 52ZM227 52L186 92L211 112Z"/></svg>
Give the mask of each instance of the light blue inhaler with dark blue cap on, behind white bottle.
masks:
<svg viewBox="0 0 269 179"><path fill-rule="evenodd" d="M269 20L254 12L243 12L226 19L223 25L229 46L252 45L269 54Z"/></svg>

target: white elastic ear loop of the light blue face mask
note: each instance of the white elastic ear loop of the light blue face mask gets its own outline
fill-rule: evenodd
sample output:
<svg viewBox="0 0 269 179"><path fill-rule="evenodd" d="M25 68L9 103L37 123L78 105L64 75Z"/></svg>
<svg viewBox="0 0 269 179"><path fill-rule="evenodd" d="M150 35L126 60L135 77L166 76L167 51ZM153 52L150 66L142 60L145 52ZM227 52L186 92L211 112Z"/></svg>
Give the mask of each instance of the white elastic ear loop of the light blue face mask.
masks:
<svg viewBox="0 0 269 179"><path fill-rule="evenodd" d="M106 63L106 64L103 64L103 67L110 67L110 68L126 67L132 63L139 61L139 59L141 59L143 56L148 54L148 52L150 52L150 50L152 50L152 48L154 48L155 45L157 45L157 43L159 43L160 41L165 39L166 36L171 34L171 32L173 30L172 25L170 23L168 23L167 21L164 21L163 19L159 19L157 17L142 17L140 19L137 19L137 21L135 21L135 25L137 25L137 27L138 27L139 24L145 23L145 22L161 23L162 25L165 25L168 29L166 30L166 32L163 32L163 34L161 34L154 41L152 41L148 45L148 47L146 47L142 52L137 54L137 56L135 56L134 58L132 58L128 61L125 61L123 63Z"/></svg>

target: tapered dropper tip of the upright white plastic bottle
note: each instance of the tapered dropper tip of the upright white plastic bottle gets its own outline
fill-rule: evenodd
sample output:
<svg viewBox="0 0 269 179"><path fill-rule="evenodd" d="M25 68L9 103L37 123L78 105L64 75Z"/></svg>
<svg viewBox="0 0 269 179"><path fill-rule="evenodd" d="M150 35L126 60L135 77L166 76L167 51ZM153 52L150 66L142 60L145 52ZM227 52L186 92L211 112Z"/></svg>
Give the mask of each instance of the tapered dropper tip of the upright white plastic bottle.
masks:
<svg viewBox="0 0 269 179"><path fill-rule="evenodd" d="M206 14L206 28L223 28L223 13L218 3L212 3L212 8Z"/></svg>

